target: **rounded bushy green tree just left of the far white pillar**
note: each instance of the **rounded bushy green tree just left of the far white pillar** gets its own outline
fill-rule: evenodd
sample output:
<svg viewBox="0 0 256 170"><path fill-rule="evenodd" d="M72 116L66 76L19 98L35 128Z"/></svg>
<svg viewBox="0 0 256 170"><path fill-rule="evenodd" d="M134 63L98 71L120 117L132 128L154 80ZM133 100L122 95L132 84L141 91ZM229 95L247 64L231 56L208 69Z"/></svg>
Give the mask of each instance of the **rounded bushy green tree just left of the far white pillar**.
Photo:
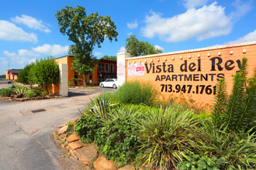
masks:
<svg viewBox="0 0 256 170"><path fill-rule="evenodd" d="M49 94L48 88L51 84L57 85L60 80L60 70L54 57L47 56L46 59L36 60L36 65L29 72L30 81L33 81L45 87Z"/></svg>

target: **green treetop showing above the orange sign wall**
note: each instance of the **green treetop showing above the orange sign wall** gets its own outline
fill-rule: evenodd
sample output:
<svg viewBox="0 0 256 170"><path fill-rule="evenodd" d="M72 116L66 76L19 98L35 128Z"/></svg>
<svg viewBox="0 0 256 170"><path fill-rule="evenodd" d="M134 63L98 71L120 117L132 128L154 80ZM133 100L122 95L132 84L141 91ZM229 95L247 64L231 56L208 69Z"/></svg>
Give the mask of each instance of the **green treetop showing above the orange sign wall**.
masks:
<svg viewBox="0 0 256 170"><path fill-rule="evenodd" d="M163 53L163 50L155 48L147 41L139 41L135 35L130 35L130 37L126 39L126 52L130 53L130 56L146 56Z"/></svg>

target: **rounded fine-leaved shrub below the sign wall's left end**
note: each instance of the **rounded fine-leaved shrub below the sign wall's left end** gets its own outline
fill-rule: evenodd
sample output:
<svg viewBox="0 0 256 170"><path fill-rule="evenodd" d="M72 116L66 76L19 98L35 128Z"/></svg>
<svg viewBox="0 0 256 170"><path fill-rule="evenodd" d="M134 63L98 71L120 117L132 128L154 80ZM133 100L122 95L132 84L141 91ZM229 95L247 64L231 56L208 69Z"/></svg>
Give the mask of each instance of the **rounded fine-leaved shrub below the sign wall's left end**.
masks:
<svg viewBox="0 0 256 170"><path fill-rule="evenodd" d="M157 98L157 90L150 83L126 82L119 87L117 97L123 104L151 105Z"/></svg>

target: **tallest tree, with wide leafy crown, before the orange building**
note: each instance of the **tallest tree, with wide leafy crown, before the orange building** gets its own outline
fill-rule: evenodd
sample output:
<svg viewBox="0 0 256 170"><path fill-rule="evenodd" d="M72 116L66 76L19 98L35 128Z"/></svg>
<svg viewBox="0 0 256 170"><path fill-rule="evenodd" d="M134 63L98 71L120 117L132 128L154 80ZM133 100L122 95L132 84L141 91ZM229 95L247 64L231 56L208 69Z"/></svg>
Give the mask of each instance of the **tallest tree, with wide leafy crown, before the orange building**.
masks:
<svg viewBox="0 0 256 170"><path fill-rule="evenodd" d="M60 27L60 32L67 35L74 45L69 47L69 55L74 56L73 69L84 76L93 73L93 67L98 61L92 56L94 46L101 47L102 42L107 38L112 42L116 39L118 32L110 16L101 16L98 12L86 15L84 7L77 8L65 6L55 15Z"/></svg>

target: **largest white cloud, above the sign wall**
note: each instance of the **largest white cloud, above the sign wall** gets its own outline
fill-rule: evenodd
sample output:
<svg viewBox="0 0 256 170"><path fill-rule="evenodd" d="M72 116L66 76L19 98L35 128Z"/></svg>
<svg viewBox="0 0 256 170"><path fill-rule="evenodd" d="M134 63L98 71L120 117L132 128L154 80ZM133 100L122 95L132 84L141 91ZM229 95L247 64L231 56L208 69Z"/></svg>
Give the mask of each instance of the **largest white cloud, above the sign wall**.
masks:
<svg viewBox="0 0 256 170"><path fill-rule="evenodd" d="M162 18L161 14L151 12L151 15L146 16L146 26L141 30L147 38L159 36L167 42L182 42L194 37L201 41L227 35L233 24L224 9L213 2L199 9L190 8L171 18Z"/></svg>

